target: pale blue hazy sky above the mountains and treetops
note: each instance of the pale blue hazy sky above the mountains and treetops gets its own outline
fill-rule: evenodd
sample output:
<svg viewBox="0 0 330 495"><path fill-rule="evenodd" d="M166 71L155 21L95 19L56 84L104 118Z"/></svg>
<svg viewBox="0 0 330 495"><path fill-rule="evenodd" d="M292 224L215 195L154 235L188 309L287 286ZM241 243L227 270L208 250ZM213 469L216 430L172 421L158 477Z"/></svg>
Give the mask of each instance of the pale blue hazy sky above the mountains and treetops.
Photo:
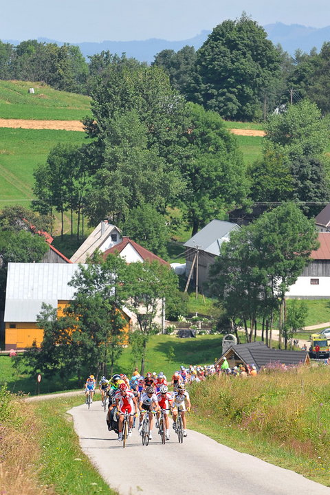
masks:
<svg viewBox="0 0 330 495"><path fill-rule="evenodd" d="M329 0L0 0L0 39L179 41L243 10L261 25L330 25Z"/></svg>

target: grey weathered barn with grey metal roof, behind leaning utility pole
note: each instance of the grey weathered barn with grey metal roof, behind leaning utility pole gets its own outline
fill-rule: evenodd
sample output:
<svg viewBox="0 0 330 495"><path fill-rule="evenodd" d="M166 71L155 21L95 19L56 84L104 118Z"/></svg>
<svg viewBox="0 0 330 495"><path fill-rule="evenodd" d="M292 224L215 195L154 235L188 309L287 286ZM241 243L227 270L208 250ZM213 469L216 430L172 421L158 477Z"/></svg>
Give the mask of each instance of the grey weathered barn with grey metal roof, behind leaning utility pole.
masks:
<svg viewBox="0 0 330 495"><path fill-rule="evenodd" d="M208 225L199 230L186 243L186 277L192 269L192 279L196 281L196 267L198 263L198 286L208 281L210 266L220 254L220 246L228 242L230 232L239 229L239 225L223 220L212 220ZM198 260L197 260L198 249ZM192 268L192 264L194 267Z"/></svg>

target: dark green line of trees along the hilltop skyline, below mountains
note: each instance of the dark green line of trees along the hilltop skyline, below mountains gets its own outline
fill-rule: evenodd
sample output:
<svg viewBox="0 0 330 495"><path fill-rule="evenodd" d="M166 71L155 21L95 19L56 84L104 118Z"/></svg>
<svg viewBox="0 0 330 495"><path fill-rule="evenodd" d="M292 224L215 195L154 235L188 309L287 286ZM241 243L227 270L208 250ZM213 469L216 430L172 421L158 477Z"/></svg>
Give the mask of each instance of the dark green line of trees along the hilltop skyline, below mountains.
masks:
<svg viewBox="0 0 330 495"><path fill-rule="evenodd" d="M90 94L113 55L101 52L85 60L80 48L28 40L14 46L0 41L0 79L41 80L55 89ZM152 65L162 67L186 100L217 111L226 120L262 120L290 101L309 98L329 113L330 43L318 53L294 56L267 39L245 12L217 25L199 50L162 50ZM132 59L131 64L139 64ZM146 63L142 64L146 66Z"/></svg>

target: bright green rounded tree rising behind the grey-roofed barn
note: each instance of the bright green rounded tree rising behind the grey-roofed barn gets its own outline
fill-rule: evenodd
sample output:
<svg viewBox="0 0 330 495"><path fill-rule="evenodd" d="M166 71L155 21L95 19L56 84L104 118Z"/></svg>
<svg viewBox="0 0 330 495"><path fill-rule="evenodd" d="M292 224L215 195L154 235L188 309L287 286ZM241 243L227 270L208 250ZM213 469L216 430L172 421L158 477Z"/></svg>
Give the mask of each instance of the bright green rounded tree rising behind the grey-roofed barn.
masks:
<svg viewBox="0 0 330 495"><path fill-rule="evenodd" d="M245 201L248 182L241 152L219 114L188 104L190 127L181 173L186 181L184 215L192 234Z"/></svg>

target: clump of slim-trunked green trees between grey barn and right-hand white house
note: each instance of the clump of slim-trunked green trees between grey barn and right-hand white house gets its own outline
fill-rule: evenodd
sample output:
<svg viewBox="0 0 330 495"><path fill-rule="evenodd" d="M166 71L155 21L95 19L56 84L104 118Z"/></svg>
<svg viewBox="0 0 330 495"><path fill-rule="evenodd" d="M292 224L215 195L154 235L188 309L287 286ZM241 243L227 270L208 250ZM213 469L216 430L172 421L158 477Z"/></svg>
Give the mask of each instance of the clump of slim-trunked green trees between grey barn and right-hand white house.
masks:
<svg viewBox="0 0 330 495"><path fill-rule="evenodd" d="M279 308L282 331L286 320L285 293L303 272L317 246L313 221L294 203L283 204L241 231L233 232L230 242L221 245L221 254L212 268L211 288L232 320L239 317L245 322L250 318L251 329L256 314L270 320L271 342L274 311ZM248 335L246 322L245 331ZM248 338L251 337L250 333Z"/></svg>

